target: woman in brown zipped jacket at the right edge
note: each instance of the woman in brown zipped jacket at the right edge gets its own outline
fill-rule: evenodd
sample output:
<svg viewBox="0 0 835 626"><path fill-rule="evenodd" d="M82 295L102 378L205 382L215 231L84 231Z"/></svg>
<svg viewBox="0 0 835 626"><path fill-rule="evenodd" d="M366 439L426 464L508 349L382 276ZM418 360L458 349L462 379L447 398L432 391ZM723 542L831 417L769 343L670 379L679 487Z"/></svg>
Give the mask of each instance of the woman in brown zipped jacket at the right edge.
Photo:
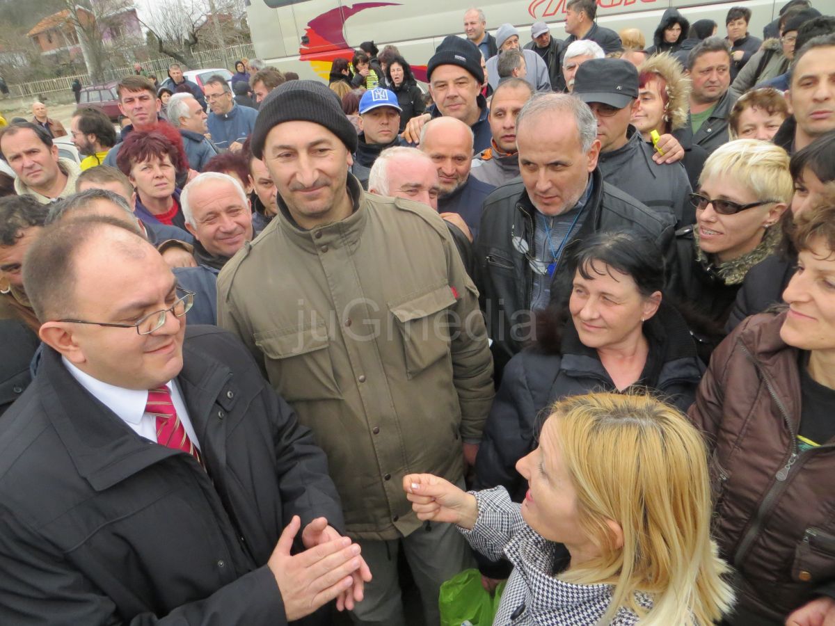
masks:
<svg viewBox="0 0 835 626"><path fill-rule="evenodd" d="M733 563L726 626L835 620L835 204L802 210L787 307L716 348L688 411L711 459L713 536Z"/></svg>

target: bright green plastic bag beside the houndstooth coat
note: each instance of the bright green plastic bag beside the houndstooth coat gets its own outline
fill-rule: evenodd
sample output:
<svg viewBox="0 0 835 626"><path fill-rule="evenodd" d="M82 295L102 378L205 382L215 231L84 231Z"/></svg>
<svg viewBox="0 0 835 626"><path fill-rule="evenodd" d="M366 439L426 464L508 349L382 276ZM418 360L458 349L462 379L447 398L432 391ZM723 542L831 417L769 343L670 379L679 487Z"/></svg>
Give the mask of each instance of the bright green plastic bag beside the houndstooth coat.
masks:
<svg viewBox="0 0 835 626"><path fill-rule="evenodd" d="M491 626L496 616L504 584L499 583L491 596L481 586L478 569L465 569L441 585L438 606L441 609L441 626L461 626L465 622L473 626Z"/></svg>

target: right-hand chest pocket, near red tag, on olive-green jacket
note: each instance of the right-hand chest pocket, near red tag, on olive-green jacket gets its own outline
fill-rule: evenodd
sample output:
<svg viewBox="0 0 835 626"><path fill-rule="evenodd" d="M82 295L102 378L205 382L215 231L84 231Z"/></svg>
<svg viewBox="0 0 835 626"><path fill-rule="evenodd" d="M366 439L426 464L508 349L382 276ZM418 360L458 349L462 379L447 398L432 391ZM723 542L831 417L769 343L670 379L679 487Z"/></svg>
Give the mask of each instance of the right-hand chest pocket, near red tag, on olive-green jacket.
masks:
<svg viewBox="0 0 835 626"><path fill-rule="evenodd" d="M449 354L451 329L448 308L455 304L455 296L449 285L443 285L388 309L397 320L397 329L403 341L406 374L414 378L436 361Z"/></svg>

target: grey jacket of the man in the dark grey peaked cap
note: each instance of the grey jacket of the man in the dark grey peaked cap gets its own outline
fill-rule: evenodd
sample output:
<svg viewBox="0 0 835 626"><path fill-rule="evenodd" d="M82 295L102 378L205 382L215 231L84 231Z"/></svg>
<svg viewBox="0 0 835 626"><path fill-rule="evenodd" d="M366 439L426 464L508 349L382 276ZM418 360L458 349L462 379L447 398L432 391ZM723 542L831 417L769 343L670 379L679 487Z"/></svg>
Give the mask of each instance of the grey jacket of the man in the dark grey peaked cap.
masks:
<svg viewBox="0 0 835 626"><path fill-rule="evenodd" d="M603 179L640 200L652 210L676 214L676 226L696 221L696 210L690 203L690 179L681 163L657 164L653 149L641 139L633 126L626 144L611 152L601 153L597 167Z"/></svg>

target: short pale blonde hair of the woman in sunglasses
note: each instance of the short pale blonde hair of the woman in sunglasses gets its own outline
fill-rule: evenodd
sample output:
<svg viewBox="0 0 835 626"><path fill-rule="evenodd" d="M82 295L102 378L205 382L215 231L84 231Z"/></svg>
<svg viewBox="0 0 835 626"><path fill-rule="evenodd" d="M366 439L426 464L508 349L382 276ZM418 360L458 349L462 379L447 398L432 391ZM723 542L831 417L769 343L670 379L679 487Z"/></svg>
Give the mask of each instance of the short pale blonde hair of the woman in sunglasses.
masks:
<svg viewBox="0 0 835 626"><path fill-rule="evenodd" d="M727 176L761 200L789 204L794 181L788 169L789 157L780 146L760 139L734 139L707 157L699 184L715 176Z"/></svg>

